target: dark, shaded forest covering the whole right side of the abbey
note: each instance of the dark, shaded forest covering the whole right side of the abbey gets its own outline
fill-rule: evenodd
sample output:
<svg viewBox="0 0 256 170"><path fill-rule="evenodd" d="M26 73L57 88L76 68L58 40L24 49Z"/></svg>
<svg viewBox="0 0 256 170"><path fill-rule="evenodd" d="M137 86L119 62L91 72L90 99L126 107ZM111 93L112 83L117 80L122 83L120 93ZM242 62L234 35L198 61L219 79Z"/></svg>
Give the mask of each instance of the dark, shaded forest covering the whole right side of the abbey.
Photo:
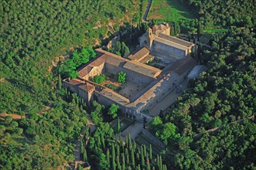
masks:
<svg viewBox="0 0 256 170"><path fill-rule="evenodd" d="M150 122L150 130L179 152L168 165L170 168L254 169L254 3L240 2L243 4L240 6L234 5L235 2L230 5L208 1L189 3L200 7L198 10L204 19L200 22L204 21L205 26L221 26L228 31L212 35L211 48L199 44L200 61L209 70L199 79L190 80L189 89L178 97L173 109ZM220 24L230 19L224 12L226 5L233 8L231 12L237 13L231 15L234 22L227 22L227 25ZM213 10L216 8L223 11ZM214 131L215 128L220 130Z"/></svg>

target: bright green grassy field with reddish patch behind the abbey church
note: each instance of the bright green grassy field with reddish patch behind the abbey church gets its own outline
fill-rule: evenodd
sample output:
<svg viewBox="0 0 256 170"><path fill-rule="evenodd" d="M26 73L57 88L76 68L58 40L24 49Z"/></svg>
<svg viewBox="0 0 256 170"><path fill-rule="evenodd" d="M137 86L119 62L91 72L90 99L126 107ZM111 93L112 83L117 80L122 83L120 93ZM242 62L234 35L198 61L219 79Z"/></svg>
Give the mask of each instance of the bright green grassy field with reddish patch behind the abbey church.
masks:
<svg viewBox="0 0 256 170"><path fill-rule="evenodd" d="M189 23L195 16L179 0L153 0L148 19Z"/></svg>

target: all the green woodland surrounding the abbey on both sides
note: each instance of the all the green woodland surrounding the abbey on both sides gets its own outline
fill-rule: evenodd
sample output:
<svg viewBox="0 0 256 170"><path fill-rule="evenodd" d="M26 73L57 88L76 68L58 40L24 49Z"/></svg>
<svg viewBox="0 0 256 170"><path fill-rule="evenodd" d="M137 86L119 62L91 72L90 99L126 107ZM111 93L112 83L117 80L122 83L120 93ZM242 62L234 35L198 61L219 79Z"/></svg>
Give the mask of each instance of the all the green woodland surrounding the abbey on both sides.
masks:
<svg viewBox="0 0 256 170"><path fill-rule="evenodd" d="M126 44L135 44L133 37L147 28L134 27L147 1L2 1L0 114L10 115L0 117L0 168L70 168L90 114L96 130L88 141L85 128L81 158L95 169L254 169L256 3L182 2L198 16L191 27L200 34L209 28L227 32L211 35L210 48L199 42L199 60L209 70L148 124L167 145L152 155L151 147L139 147L130 136L120 142L114 134L109 121L117 107L89 107L61 87L62 78L76 77L78 66L95 58L91 46L101 46L121 26L132 37L120 39L112 51L129 53ZM178 24L171 28L180 32Z"/></svg>

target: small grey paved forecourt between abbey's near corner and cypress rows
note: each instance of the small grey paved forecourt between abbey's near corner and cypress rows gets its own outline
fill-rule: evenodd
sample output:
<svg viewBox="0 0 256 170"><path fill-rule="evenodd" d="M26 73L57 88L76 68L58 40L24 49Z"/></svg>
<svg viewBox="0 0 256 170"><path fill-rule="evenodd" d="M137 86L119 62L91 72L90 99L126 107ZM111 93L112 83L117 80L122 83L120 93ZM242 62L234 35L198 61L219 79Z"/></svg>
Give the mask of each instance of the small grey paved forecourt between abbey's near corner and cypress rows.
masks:
<svg viewBox="0 0 256 170"><path fill-rule="evenodd" d="M130 133L130 138L134 140L137 137L137 134L143 129L143 124L140 122L135 122L130 125L130 127L126 128L122 133L122 140L125 141L126 136Z"/></svg>

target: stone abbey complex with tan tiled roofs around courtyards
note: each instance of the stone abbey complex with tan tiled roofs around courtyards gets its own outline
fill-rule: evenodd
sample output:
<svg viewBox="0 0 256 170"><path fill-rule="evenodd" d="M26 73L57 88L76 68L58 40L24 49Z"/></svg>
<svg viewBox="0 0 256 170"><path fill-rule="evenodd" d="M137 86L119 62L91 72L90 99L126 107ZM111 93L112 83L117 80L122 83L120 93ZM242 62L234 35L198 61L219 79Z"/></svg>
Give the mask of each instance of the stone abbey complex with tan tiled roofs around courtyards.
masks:
<svg viewBox="0 0 256 170"><path fill-rule="evenodd" d="M140 37L140 49L126 58L95 49L97 57L78 70L78 78L64 80L64 87L78 93L88 104L118 104L126 116L150 118L146 110L175 90L195 66L190 53L195 44L170 36L168 24L154 26ZM126 83L118 84L119 72L126 73ZM105 74L102 84L92 82L95 75ZM107 85L113 84L119 90Z"/></svg>

